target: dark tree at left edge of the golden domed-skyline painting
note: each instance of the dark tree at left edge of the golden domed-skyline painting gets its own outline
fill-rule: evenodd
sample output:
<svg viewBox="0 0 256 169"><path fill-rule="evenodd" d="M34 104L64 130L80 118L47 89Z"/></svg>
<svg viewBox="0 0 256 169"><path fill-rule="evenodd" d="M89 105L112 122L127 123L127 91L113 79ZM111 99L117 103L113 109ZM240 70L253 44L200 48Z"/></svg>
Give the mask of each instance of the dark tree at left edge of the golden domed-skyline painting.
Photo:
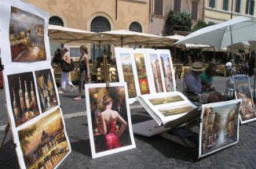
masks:
<svg viewBox="0 0 256 169"><path fill-rule="evenodd" d="M19 132L19 138L20 138L20 146L23 154L26 154L28 149L28 144L30 143L29 138L34 135L35 131L37 129L36 125L33 125L31 128L26 128Z"/></svg>

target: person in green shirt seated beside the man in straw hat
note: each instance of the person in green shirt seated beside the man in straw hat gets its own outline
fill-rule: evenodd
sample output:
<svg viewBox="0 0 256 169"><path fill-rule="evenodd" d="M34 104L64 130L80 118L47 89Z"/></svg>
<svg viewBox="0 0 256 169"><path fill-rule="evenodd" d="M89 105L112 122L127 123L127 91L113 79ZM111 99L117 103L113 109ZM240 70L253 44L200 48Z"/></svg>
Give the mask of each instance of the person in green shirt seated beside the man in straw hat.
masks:
<svg viewBox="0 0 256 169"><path fill-rule="evenodd" d="M210 88L207 88L208 91L215 91L214 85L212 82L214 81L214 76L216 74L216 69L213 66L207 67L207 70L199 75L201 78L201 85L210 85Z"/></svg>

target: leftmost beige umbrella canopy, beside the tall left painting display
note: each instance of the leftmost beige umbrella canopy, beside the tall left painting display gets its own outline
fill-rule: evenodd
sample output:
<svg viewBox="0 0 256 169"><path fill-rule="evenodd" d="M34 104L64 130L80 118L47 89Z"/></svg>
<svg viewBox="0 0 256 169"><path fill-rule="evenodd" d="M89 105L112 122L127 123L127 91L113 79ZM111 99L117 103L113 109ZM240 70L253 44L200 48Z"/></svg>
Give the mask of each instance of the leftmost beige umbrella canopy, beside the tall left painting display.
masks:
<svg viewBox="0 0 256 169"><path fill-rule="evenodd" d="M82 31L70 27L60 27L57 25L49 25L49 40L60 43L68 43L71 41L79 41L83 43L91 42L88 38L97 33L91 31Z"/></svg>

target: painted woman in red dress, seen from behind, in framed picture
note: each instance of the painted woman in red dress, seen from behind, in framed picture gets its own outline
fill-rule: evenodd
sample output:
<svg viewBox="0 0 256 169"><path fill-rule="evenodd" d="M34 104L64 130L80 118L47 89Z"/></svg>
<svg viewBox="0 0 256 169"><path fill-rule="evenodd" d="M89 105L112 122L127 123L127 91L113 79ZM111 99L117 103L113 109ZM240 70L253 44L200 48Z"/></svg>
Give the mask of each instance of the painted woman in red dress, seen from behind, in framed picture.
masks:
<svg viewBox="0 0 256 169"><path fill-rule="evenodd" d="M105 150L119 148L119 138L126 130L127 123L117 111L112 110L112 98L109 95L103 96L102 104L104 111L98 116L97 128L104 135ZM121 124L119 130L116 130L117 123Z"/></svg>

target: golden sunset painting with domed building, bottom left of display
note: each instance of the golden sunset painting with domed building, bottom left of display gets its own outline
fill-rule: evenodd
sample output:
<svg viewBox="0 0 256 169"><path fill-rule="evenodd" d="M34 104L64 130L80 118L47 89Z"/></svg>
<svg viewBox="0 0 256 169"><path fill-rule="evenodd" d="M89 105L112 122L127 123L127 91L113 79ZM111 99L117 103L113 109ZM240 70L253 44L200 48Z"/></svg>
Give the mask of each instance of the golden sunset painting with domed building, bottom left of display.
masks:
<svg viewBox="0 0 256 169"><path fill-rule="evenodd" d="M27 168L54 168L70 151L59 109L18 134Z"/></svg>

